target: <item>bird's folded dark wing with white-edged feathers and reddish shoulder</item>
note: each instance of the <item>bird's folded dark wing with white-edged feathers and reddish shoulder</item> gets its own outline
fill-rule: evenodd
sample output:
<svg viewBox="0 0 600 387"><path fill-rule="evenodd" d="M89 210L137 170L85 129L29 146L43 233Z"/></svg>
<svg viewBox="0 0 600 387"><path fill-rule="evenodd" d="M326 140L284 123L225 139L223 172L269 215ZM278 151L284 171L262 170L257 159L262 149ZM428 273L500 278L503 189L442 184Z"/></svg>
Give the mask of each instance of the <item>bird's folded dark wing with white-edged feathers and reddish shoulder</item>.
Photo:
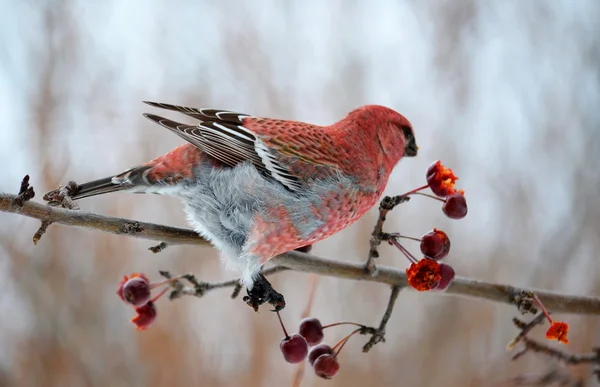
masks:
<svg viewBox="0 0 600 387"><path fill-rule="evenodd" d="M315 154L303 152L310 148L298 128L292 128L285 136L285 123L291 121L266 120L246 114L226 110L195 109L164 103L147 102L150 106L184 113L200 121L197 125L187 125L154 114L144 114L149 120L173 131L184 140L194 144L215 159L229 165L250 161L261 172L283 184L291 191L302 188L306 165L314 168L332 165L327 160L318 160ZM304 133L310 137L316 127ZM278 127L283 126L283 127ZM307 164L308 163L308 164Z"/></svg>

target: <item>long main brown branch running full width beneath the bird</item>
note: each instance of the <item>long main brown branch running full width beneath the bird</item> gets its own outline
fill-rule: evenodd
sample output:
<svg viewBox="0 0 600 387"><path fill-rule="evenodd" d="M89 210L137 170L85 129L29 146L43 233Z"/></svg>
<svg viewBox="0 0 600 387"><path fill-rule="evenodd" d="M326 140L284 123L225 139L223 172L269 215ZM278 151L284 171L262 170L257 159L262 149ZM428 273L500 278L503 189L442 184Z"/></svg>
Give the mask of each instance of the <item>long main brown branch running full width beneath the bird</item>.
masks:
<svg viewBox="0 0 600 387"><path fill-rule="evenodd" d="M50 207L32 201L27 201L22 206L18 206L15 205L16 197L16 195L0 193L0 211L19 214L53 224L165 242L169 246L183 244L210 246L208 241L192 230L103 216L80 210ZM371 275L365 270L364 264L341 262L295 251L275 257L270 262L275 266L283 266L307 273L378 282L391 286L403 287L407 285L406 274L403 270L386 266L377 266L377 270ZM564 295L536 289L523 289L470 278L457 277L445 293L514 304L516 298L523 291L535 292L544 302L544 305L554 313L600 314L599 297Z"/></svg>

